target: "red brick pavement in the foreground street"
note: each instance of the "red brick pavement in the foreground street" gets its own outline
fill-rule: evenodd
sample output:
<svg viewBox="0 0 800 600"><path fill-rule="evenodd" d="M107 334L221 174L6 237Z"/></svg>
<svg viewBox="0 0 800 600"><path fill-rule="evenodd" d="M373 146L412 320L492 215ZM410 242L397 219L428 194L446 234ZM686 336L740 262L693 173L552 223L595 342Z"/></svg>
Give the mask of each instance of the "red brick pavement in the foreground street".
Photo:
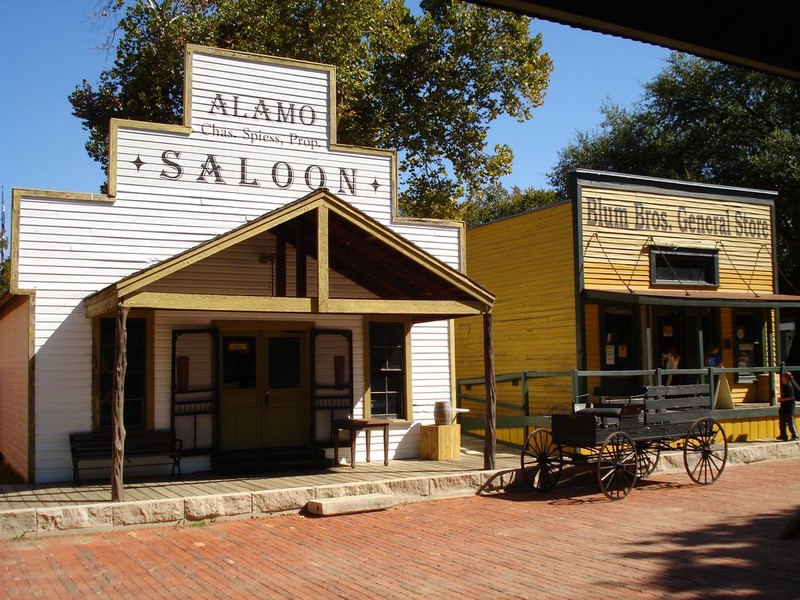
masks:
<svg viewBox="0 0 800 600"><path fill-rule="evenodd" d="M6 598L800 598L800 459L711 486L533 492L0 542Z"/></svg>

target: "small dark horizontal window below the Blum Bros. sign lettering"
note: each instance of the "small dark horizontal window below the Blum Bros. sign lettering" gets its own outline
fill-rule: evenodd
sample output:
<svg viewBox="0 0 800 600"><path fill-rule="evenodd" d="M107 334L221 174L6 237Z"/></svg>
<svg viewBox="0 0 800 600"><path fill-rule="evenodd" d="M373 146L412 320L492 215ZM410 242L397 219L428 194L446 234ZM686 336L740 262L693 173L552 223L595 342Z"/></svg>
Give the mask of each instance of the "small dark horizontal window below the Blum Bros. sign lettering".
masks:
<svg viewBox="0 0 800 600"><path fill-rule="evenodd" d="M719 285L717 251L651 247L650 283L692 286Z"/></svg>

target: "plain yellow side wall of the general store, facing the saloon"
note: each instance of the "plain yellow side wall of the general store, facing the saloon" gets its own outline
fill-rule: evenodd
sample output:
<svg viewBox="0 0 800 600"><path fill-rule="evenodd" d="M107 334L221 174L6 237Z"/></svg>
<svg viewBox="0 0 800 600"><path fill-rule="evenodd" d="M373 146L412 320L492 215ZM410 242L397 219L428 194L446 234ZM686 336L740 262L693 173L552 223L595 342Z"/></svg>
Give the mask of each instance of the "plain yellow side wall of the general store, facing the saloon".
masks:
<svg viewBox="0 0 800 600"><path fill-rule="evenodd" d="M576 367L572 240L570 204L467 231L467 274L497 297L492 310L496 373ZM481 318L458 319L455 331L457 377L483 377ZM571 394L566 378L534 382L530 414L569 406ZM497 400L520 405L520 388L499 386Z"/></svg>

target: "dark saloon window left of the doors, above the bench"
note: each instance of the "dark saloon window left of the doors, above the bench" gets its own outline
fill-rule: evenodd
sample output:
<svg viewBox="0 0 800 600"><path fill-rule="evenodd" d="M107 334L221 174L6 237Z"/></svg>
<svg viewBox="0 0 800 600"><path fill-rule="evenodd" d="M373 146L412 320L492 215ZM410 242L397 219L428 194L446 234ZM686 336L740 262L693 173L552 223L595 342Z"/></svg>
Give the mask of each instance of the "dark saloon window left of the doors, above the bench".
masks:
<svg viewBox="0 0 800 600"><path fill-rule="evenodd" d="M147 320L127 319L127 360L125 371L125 427L145 426L145 389L147 386ZM115 319L100 319L99 347L99 397L100 426L113 425L114 400L114 346L117 338Z"/></svg>

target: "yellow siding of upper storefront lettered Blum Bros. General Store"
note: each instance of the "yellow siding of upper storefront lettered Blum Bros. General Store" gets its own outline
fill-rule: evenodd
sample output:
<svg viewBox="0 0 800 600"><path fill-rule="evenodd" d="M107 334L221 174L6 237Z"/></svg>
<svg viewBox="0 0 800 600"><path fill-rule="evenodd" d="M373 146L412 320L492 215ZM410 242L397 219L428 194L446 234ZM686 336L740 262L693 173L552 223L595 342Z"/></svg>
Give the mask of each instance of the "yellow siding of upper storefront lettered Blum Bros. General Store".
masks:
<svg viewBox="0 0 800 600"><path fill-rule="evenodd" d="M717 221L709 231L682 231L687 215ZM737 215L757 225L740 231ZM581 219L587 289L650 288L649 247L658 245L717 249L721 290L773 291L769 205L584 187Z"/></svg>

